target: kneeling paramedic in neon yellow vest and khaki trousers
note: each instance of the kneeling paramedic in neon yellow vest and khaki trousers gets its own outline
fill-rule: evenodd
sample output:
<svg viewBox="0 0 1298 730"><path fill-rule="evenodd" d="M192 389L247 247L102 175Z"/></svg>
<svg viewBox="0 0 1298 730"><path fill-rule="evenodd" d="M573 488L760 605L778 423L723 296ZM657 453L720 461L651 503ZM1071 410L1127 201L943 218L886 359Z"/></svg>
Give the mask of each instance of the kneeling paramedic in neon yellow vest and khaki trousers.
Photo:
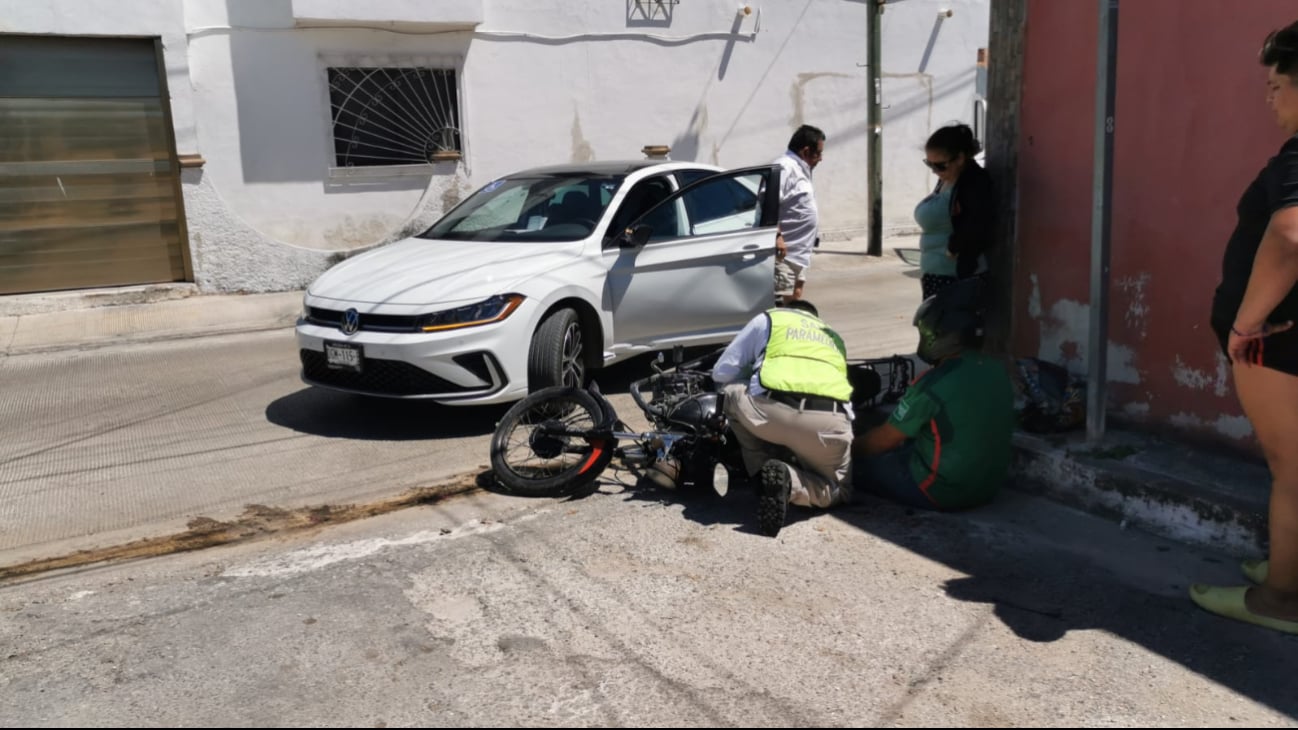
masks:
<svg viewBox="0 0 1298 730"><path fill-rule="evenodd" d="M851 499L851 383L842 338L806 300L758 314L713 368L726 417L758 482L758 526L775 536L788 504ZM772 457L771 446L796 464Z"/></svg>

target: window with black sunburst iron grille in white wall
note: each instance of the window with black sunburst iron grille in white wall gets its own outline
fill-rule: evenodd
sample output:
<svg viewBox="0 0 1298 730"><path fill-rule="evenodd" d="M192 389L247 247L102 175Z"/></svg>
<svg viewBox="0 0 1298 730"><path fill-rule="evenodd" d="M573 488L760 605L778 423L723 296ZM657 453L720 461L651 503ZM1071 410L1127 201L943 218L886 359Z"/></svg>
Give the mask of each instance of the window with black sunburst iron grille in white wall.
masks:
<svg viewBox="0 0 1298 730"><path fill-rule="evenodd" d="M454 69L330 68L339 168L419 165L463 151Z"/></svg>

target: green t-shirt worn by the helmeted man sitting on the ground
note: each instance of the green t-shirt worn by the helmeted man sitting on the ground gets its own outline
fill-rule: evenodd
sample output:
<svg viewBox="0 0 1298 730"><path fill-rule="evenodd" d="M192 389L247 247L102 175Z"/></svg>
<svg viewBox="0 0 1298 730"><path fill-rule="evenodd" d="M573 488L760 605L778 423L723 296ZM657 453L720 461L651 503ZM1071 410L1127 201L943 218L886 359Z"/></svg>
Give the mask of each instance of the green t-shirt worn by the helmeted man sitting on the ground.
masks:
<svg viewBox="0 0 1298 730"><path fill-rule="evenodd" d="M1005 366L966 352L924 373L889 422L910 436L910 472L938 507L992 500L1010 473L1014 386Z"/></svg>

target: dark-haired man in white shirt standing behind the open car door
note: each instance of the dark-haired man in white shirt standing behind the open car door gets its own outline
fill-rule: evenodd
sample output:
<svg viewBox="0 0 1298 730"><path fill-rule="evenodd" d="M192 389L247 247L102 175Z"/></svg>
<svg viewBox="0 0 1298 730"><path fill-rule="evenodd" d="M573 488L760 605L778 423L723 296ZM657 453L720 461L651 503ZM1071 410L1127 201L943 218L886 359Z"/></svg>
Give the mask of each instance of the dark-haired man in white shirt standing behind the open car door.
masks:
<svg viewBox="0 0 1298 730"><path fill-rule="evenodd" d="M775 296L802 299L811 251L820 236L820 214L811 188L811 170L824 155L824 132L802 125L789 139L789 148L775 164L780 166L780 223L775 235Z"/></svg>

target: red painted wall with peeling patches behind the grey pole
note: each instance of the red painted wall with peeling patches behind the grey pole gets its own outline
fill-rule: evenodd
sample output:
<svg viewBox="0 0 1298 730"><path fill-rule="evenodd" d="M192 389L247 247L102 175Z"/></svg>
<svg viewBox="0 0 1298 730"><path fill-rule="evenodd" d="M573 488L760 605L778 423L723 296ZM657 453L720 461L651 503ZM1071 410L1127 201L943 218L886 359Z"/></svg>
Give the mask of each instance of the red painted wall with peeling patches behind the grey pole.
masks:
<svg viewBox="0 0 1298 730"><path fill-rule="evenodd" d="M1115 416L1216 440L1249 436L1207 318L1236 201L1284 142L1258 49L1294 19L1293 0L1120 5ZM1029 0L1024 44L1014 343L1076 373L1086 369L1097 21L1093 1Z"/></svg>

